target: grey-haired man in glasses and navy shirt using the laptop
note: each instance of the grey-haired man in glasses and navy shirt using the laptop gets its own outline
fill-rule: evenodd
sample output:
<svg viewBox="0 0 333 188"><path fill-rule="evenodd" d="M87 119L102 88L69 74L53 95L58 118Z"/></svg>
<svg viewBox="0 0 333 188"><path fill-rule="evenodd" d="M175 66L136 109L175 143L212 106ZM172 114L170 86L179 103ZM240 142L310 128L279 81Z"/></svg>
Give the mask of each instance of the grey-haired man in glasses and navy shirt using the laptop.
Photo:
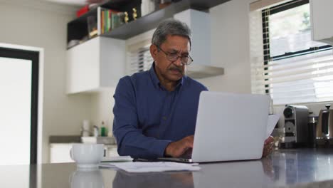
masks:
<svg viewBox="0 0 333 188"><path fill-rule="evenodd" d="M120 79L113 109L120 155L180 157L191 152L199 95L207 88L185 75L193 61L190 50L189 27L174 19L163 21L152 36L152 68ZM263 155L271 142L265 141Z"/></svg>

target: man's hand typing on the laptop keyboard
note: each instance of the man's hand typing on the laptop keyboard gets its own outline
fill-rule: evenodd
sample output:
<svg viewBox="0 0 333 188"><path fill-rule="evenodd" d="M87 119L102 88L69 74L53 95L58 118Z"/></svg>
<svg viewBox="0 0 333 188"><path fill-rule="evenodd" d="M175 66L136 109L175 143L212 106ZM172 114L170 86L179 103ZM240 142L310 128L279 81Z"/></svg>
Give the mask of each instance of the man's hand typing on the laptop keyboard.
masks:
<svg viewBox="0 0 333 188"><path fill-rule="evenodd" d="M170 142L165 148L164 154L171 157L181 157L193 147L194 135L184 137L176 142Z"/></svg>

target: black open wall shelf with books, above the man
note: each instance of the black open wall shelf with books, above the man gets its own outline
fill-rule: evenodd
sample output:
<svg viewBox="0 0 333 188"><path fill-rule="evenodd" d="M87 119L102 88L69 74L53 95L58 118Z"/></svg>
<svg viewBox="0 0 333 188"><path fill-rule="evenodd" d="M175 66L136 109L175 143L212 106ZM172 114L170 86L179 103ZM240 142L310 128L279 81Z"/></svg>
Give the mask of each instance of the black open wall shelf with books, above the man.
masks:
<svg viewBox="0 0 333 188"><path fill-rule="evenodd" d="M181 0L166 6L164 9L139 17L135 21L131 21L131 16L129 16L129 23L125 23L122 26L114 28L110 32L103 33L100 36L119 39L131 38L132 36L137 36L140 33L156 28L160 21L171 18L174 14L186 9L208 11L211 7L223 4L226 1L231 0ZM117 11L127 11L129 15L132 15L132 8L135 7L137 9L138 16L141 15L141 0L113 0L102 4L101 6L103 8L114 9ZM80 18L68 23L68 42L73 39L80 40L84 36L88 36L88 16L97 16L97 9L90 10L88 13L80 16Z"/></svg>

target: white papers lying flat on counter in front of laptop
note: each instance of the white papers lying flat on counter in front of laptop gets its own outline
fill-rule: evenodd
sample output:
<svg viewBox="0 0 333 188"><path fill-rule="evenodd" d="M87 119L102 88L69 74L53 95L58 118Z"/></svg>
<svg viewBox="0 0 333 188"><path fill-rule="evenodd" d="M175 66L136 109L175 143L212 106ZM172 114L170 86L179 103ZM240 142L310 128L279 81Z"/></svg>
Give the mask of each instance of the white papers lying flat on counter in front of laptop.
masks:
<svg viewBox="0 0 333 188"><path fill-rule="evenodd" d="M201 169L198 163L178 162L108 162L100 164L100 167L116 167L126 172L196 171Z"/></svg>

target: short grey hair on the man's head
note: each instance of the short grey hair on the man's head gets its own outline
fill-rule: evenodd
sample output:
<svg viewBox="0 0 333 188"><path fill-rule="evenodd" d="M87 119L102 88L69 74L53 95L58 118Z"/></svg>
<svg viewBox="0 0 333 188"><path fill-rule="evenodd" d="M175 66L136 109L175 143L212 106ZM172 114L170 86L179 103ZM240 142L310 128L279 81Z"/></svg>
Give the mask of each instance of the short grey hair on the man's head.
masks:
<svg viewBox="0 0 333 188"><path fill-rule="evenodd" d="M152 44L156 46L161 46L164 41L166 41L166 36L184 36L189 38L190 46L192 44L191 41L191 29L186 23L181 22L176 19L166 19L159 23L157 29L155 30L152 37Z"/></svg>

